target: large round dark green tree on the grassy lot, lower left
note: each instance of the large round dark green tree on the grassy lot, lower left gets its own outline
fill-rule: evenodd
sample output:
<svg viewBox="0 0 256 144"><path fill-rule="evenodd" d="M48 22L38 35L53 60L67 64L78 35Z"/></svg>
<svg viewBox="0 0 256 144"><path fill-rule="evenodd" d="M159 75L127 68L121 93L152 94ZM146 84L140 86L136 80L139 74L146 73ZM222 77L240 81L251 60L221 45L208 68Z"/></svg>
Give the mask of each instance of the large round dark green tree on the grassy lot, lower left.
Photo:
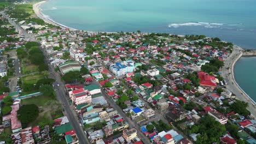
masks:
<svg viewBox="0 0 256 144"><path fill-rule="evenodd" d="M21 121L22 127L26 128L28 123L33 122L39 115L37 105L22 105L18 110L18 119Z"/></svg>

